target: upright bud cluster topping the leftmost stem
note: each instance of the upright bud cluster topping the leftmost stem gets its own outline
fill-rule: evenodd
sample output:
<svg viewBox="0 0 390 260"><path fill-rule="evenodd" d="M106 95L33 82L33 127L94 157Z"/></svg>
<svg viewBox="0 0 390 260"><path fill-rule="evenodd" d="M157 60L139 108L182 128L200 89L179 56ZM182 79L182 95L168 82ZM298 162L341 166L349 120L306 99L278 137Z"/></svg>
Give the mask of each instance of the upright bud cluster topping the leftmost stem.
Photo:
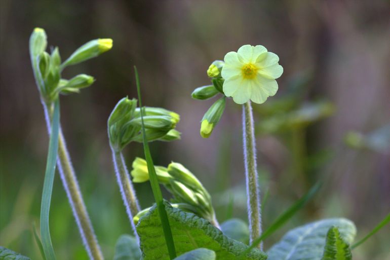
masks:
<svg viewBox="0 0 390 260"><path fill-rule="evenodd" d="M58 47L52 48L51 54L46 52L47 35L44 29L35 28L30 36L30 59L36 84L42 98L47 103L53 102L58 94L78 93L80 89L91 86L95 79L80 74L70 80L61 79L62 70L68 66L96 57L112 48L111 39L99 39L86 43L73 52L61 64Z"/></svg>

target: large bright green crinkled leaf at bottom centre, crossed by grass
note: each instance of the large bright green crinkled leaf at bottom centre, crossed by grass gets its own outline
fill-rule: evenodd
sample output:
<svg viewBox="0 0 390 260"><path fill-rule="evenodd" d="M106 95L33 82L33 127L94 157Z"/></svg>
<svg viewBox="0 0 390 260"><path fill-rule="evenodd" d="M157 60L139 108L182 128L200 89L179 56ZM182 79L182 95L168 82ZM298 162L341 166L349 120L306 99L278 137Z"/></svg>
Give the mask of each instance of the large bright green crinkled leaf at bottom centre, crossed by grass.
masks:
<svg viewBox="0 0 390 260"><path fill-rule="evenodd" d="M180 255L203 247L215 251L217 260L236 260L248 248L247 245L224 236L206 219L173 208L168 202L164 204L171 224L177 254ZM140 218L136 228L140 237L143 260L169 259L161 221L155 205ZM266 254L258 249L251 250L243 257L245 260L265 260L266 258Z"/></svg>

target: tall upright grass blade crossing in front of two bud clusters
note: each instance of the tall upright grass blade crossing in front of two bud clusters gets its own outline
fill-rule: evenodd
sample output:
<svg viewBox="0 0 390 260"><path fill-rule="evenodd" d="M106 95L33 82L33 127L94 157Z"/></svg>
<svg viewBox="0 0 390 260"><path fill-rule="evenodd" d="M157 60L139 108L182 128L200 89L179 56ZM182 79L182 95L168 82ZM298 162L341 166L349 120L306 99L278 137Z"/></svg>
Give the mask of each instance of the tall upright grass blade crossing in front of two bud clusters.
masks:
<svg viewBox="0 0 390 260"><path fill-rule="evenodd" d="M149 172L150 185L151 185L151 189L153 191L155 203L157 204L157 208L159 211L161 225L163 226L165 242L167 243L169 257L172 260L173 258L176 257L176 249L175 249L175 244L173 242L172 231L171 231L171 226L169 225L167 211L165 210L165 206L163 203L163 194L161 193L159 180L157 179L157 174L155 173L155 170L154 170L154 164L153 164L153 160L152 160L151 155L150 155L149 145L147 142L145 126L143 124L143 113L144 112L142 109L141 91L140 91L139 77L138 77L138 71L137 71L136 66L134 66L134 72L135 72L135 80L136 80L137 92L138 92L138 102L139 102L139 107L140 107L140 112L141 112L143 150L145 152L145 159L147 162L147 170Z"/></svg>

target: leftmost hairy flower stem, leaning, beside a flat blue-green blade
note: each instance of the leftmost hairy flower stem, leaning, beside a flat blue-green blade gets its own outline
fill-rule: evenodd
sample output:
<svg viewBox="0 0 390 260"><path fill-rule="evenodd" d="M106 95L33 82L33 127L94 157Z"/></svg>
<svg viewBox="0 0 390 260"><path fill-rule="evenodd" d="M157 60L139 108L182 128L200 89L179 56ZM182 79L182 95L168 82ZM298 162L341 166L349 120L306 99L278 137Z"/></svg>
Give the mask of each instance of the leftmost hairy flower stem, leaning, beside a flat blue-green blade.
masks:
<svg viewBox="0 0 390 260"><path fill-rule="evenodd" d="M47 104L44 101L42 101L42 103L45 110L46 124L48 129L50 129L51 119L54 112L53 104ZM62 184L73 211L73 216L76 219L77 227L79 227L80 235L89 258L91 260L103 260L103 254L96 239L96 235L80 191L79 183L77 183L76 175L70 161L69 153L65 144L65 138L62 134L61 128L59 130L58 139L57 166L61 176Z"/></svg>

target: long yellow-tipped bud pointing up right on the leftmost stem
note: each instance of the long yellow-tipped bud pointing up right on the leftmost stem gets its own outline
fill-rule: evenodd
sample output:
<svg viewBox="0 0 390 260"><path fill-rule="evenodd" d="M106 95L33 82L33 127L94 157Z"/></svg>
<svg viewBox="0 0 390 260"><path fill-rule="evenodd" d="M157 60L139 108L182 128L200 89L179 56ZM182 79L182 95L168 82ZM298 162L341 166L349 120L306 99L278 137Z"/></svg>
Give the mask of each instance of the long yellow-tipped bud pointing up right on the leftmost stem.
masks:
<svg viewBox="0 0 390 260"><path fill-rule="evenodd" d="M79 49L75 50L72 55L61 65L62 68L74 65L91 58L94 58L112 48L112 39L92 40Z"/></svg>

